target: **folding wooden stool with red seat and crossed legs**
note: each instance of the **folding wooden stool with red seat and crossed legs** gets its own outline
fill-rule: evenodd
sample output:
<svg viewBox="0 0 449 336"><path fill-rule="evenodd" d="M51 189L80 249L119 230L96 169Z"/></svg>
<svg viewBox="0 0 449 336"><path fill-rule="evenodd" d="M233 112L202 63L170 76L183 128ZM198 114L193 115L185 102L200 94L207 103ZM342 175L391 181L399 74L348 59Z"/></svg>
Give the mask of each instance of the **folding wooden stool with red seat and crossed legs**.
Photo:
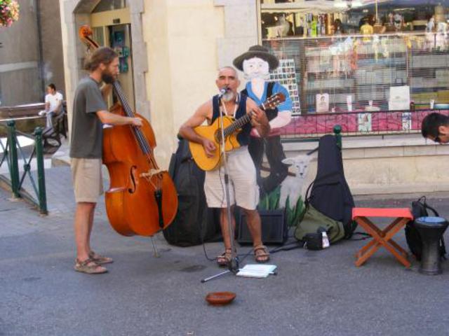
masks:
<svg viewBox="0 0 449 336"><path fill-rule="evenodd" d="M380 230L368 217L388 217L395 218L391 224ZM407 259L407 252L393 240L393 236L401 230L410 219L413 219L410 209L407 208L354 208L352 209L352 219L357 222L368 234L373 237L368 244L363 246L356 253L356 266L363 265L368 258L377 251L380 246L384 246L396 259L404 266L410 267Z"/></svg>

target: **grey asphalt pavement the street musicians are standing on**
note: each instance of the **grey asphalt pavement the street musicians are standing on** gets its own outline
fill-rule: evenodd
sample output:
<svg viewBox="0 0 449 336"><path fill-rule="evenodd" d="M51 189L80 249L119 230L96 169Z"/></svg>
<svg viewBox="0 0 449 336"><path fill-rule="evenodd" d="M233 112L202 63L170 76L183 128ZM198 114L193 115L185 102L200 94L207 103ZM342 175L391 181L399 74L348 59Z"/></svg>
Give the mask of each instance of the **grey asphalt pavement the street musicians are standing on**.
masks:
<svg viewBox="0 0 449 336"><path fill-rule="evenodd" d="M0 335L448 335L449 261L443 274L405 269L380 248L366 265L354 254L366 241L324 251L272 255L267 279L220 272L203 246L170 246L155 236L122 237L110 227L102 199L93 247L114 258L108 274L74 272L74 196L69 167L46 170L48 216L0 189ZM107 186L107 181L105 181ZM429 204L449 218L449 195ZM394 197L391 197L394 198ZM409 207L411 200L359 200L360 207ZM361 230L360 228L358 230ZM406 246L402 233L395 236ZM449 241L446 232L446 241ZM271 246L274 247L274 246ZM222 243L206 244L210 257ZM239 246L239 253L249 251ZM253 256L241 266L253 263ZM204 297L229 290L236 300L211 307Z"/></svg>

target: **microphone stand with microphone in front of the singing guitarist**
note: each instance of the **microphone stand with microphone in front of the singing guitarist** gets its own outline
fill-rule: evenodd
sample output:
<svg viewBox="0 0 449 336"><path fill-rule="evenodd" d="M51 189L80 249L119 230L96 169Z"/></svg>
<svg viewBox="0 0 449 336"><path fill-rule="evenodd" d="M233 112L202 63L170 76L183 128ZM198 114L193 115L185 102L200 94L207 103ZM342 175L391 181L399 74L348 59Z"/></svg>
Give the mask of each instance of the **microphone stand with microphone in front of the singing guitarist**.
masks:
<svg viewBox="0 0 449 336"><path fill-rule="evenodd" d="M226 90L222 92L220 92L219 96L218 96L218 103L220 106L220 103L222 102L222 96L223 94L226 93ZM231 241L231 260L229 260L228 262L228 269L227 271L224 272L220 272L218 274L215 274L213 276L209 276L206 279L202 279L201 282L205 283L209 280L215 279L218 276L222 276L224 274L227 274L229 272L232 272L233 274L236 274L237 272L239 272L239 258L237 257L237 251L235 248L235 239L234 239L234 228L232 225L232 214L231 214L231 204L230 204L230 195L229 195L229 175L228 175L228 171L227 171L227 156L226 156L226 151L225 151L225 127L223 125L223 113L220 112L220 134L221 134L221 139L220 139L220 153L221 153L221 161L223 164L223 169L225 170L225 193L226 193L226 210L227 210L227 224L228 224L228 235L229 235L229 240ZM220 169L220 168L219 168ZM221 219L221 214L220 214L220 219Z"/></svg>

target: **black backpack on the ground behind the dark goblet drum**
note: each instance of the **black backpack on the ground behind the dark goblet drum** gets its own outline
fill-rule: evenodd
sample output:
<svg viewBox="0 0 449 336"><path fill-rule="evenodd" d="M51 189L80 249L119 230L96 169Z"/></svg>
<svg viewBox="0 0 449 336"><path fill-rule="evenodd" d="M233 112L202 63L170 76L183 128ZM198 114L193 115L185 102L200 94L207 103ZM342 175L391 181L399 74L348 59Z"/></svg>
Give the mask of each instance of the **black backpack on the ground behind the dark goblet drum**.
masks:
<svg viewBox="0 0 449 336"><path fill-rule="evenodd" d="M415 228L415 219L420 217L429 216L430 210L434 216L439 217L438 212L432 207L429 206L426 202L426 197L422 196L419 200L412 202L412 215L413 220L409 221L406 224L406 240L408 248L410 248L410 252L415 255L416 260L421 260L422 255L422 239L420 236L420 232ZM441 237L440 241L440 256L445 259L446 248L444 245L443 237Z"/></svg>

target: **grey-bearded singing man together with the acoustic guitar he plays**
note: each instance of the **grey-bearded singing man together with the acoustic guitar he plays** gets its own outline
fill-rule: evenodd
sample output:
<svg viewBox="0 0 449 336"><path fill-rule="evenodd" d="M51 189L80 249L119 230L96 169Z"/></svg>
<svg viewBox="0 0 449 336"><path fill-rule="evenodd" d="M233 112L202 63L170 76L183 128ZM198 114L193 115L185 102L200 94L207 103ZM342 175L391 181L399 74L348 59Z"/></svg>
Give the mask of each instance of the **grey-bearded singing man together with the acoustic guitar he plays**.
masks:
<svg viewBox="0 0 449 336"><path fill-rule="evenodd" d="M253 160L248 152L250 132L253 127L261 137L269 134L269 122L262 109L264 104L276 104L281 96L269 99L261 106L244 94L237 93L240 85L237 72L231 66L218 71L215 80L221 94L199 106L194 115L180 127L180 135L189 141L190 150L196 164L206 170L204 191L208 207L221 209L220 224L225 241L225 253L217 257L219 265L228 265L232 258L232 243L229 237L229 223L226 210L225 181L220 165L220 113L223 117L225 151L229 174L230 204L236 203L245 212L248 228L253 237L256 262L267 262L269 252L262 244L260 216L257 212L259 188ZM207 120L208 126L201 126ZM232 207L232 209L234 206ZM234 216L232 225L235 228Z"/></svg>

